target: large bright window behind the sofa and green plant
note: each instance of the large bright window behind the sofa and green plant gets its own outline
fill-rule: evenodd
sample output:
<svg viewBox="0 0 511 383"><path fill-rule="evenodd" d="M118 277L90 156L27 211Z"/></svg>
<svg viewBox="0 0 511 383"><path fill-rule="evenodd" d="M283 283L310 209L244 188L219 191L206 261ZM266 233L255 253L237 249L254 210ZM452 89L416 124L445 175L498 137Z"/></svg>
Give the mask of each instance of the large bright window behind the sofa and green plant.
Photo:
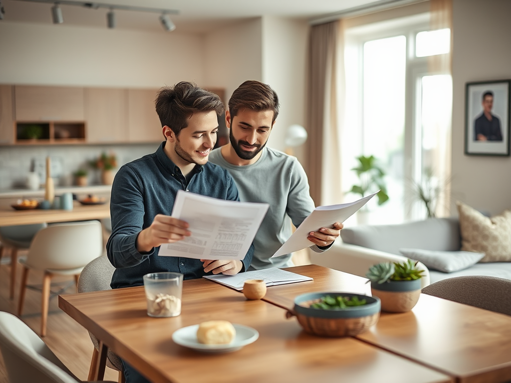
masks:
<svg viewBox="0 0 511 383"><path fill-rule="evenodd" d="M450 30L429 31L429 14L346 30L346 116L342 124L342 184L358 179L360 155L375 156L386 172L389 200L368 204L369 224L426 218L417 185L438 186L447 166L452 80L428 58L450 50ZM356 196L347 195L346 201ZM348 224L355 224L356 218Z"/></svg>

